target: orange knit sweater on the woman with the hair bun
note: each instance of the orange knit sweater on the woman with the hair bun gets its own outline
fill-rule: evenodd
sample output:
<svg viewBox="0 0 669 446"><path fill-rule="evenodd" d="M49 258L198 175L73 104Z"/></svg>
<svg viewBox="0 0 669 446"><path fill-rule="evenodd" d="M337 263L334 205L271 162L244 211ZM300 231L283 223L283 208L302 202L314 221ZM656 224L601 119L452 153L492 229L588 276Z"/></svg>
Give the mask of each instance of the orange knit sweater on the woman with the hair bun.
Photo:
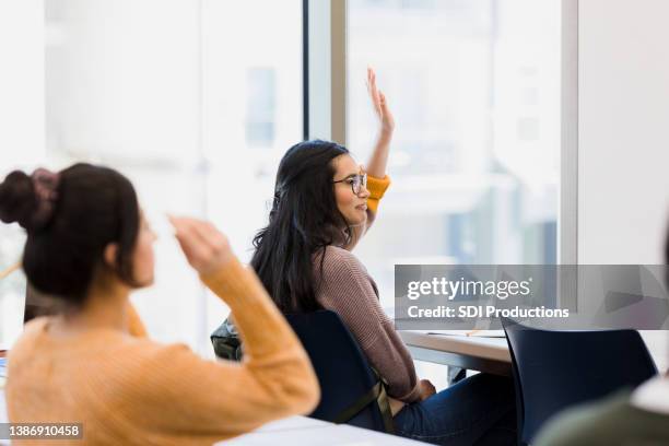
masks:
<svg viewBox="0 0 669 446"><path fill-rule="evenodd" d="M83 441L70 442L79 446L211 445L312 411L314 371L256 274L235 259L202 280L230 305L244 362L204 361L184 344L151 341L133 309L132 336L97 329L56 338L51 319L37 318L10 351L10 421L83 423Z"/></svg>

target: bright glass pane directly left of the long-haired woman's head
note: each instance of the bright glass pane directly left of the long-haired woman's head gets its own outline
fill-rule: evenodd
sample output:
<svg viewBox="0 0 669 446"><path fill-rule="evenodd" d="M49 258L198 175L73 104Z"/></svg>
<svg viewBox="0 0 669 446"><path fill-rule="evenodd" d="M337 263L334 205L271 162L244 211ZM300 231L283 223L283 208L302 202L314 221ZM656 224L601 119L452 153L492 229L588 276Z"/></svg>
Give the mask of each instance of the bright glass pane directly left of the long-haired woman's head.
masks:
<svg viewBox="0 0 669 446"><path fill-rule="evenodd" d="M207 213L249 261L251 239L267 224L279 160L303 137L302 1L203 5ZM206 314L209 334L227 312L209 295Z"/></svg>

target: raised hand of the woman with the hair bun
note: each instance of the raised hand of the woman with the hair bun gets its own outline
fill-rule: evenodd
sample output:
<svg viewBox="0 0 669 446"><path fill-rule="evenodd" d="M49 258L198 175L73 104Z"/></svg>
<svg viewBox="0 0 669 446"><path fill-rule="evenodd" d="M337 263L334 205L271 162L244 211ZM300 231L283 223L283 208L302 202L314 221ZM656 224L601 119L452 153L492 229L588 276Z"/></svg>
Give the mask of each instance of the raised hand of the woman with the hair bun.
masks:
<svg viewBox="0 0 669 446"><path fill-rule="evenodd" d="M234 258L227 237L211 223L185 216L169 221L188 262L200 274L215 272Z"/></svg>

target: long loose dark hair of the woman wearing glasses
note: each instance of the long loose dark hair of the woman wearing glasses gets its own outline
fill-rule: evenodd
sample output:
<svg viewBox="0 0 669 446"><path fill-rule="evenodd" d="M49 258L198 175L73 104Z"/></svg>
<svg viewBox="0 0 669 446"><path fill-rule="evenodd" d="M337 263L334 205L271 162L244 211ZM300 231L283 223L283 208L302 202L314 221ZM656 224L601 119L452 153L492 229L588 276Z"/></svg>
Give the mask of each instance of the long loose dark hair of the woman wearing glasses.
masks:
<svg viewBox="0 0 669 446"><path fill-rule="evenodd" d="M334 142L305 141L283 155L277 173L269 224L256 234L251 266L284 313L313 312L316 301L314 259L350 227L337 208L332 160L348 154Z"/></svg>

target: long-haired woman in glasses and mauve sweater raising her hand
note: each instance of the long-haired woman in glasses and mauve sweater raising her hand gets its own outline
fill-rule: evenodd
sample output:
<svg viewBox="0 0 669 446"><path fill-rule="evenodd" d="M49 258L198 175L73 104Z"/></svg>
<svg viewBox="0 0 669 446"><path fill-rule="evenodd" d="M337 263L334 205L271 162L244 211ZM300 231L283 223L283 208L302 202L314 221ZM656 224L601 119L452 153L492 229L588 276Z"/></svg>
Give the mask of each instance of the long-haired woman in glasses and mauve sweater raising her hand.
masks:
<svg viewBox="0 0 669 446"><path fill-rule="evenodd" d="M390 184L386 163L395 121L372 70L367 82L379 124L367 169L333 142L291 148L279 165L269 225L254 240L251 266L284 313L327 308L340 315L388 383L399 434L449 445L515 444L510 379L480 374L435 394L416 377L374 280L351 253Z"/></svg>

